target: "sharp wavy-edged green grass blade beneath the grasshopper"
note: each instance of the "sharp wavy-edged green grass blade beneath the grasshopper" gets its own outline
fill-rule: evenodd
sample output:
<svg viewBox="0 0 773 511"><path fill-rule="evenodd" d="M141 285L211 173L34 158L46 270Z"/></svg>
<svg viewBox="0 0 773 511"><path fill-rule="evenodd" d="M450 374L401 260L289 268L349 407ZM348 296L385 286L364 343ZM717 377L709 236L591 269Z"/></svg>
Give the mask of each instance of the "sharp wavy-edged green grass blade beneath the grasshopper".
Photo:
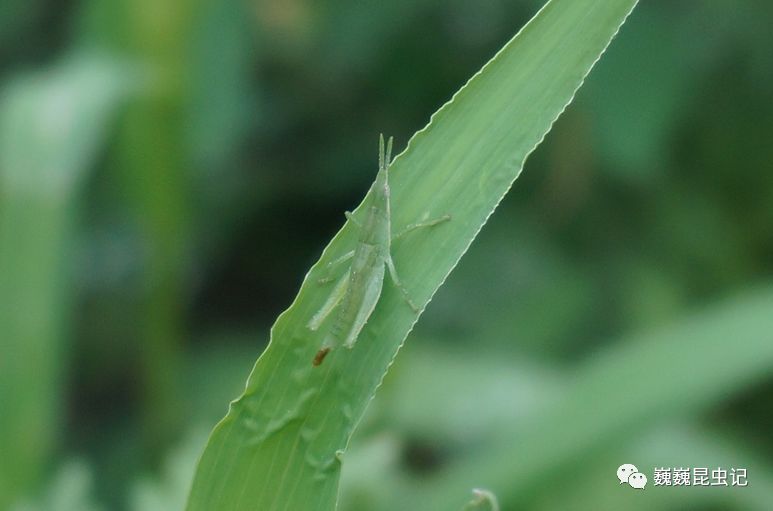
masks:
<svg viewBox="0 0 773 511"><path fill-rule="evenodd" d="M456 265L635 3L549 2L396 158L393 229L453 216L393 247L416 303ZM355 349L312 369L325 332L305 325L329 293L317 280L354 235L349 225L336 235L272 328L244 394L209 440L189 511L333 509L341 452L417 319L386 285Z"/></svg>

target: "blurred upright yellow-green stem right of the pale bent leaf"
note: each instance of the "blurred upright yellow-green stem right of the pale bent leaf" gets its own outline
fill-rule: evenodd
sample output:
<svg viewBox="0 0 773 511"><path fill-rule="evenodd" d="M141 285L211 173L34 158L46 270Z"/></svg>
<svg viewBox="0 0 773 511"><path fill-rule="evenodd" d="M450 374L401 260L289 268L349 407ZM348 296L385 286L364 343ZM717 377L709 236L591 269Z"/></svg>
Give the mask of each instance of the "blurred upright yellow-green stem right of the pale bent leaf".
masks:
<svg viewBox="0 0 773 511"><path fill-rule="evenodd" d="M182 119L186 41L194 3L131 1L128 47L145 66L149 94L123 123L124 182L144 248L140 346L145 452L153 461L182 423L181 343L189 240L188 179Z"/></svg>

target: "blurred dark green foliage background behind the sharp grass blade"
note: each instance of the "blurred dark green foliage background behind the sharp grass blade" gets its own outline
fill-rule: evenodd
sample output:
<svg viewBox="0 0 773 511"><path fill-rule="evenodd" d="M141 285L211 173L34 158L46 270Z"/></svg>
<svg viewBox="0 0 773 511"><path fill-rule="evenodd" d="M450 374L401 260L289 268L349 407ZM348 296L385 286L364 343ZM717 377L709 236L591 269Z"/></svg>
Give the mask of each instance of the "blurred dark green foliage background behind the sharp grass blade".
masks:
<svg viewBox="0 0 773 511"><path fill-rule="evenodd" d="M181 510L378 134L540 5L4 0L0 509ZM492 472L505 509L770 509L771 25L637 8L398 357L342 509ZM622 463L749 486L645 498Z"/></svg>

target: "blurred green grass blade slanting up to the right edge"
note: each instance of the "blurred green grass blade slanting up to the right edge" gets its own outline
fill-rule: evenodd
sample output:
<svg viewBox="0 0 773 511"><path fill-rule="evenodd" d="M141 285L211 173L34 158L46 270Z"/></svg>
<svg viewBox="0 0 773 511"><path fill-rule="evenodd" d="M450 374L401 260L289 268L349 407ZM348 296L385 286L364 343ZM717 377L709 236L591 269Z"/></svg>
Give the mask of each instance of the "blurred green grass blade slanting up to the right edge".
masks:
<svg viewBox="0 0 773 511"><path fill-rule="evenodd" d="M470 479L472 484L487 485L504 504L530 507L529 499L540 492L547 474L582 472L582 460L598 459L600 452L610 450L618 454L615 459L628 459L631 446L657 427L658 419L695 416L764 381L773 368L768 334L773 319L766 312L771 309L773 291L763 289L620 343L618 349L580 367L561 400L532 422L503 425L487 440L495 447L476 449L431 484L422 484L418 509L447 509L454 493L463 495L459 485ZM686 360L691 361L689 368ZM595 400L601 392L605 399ZM680 452L685 451L689 449ZM679 466L679 459L670 458L677 457L647 456ZM714 465L721 461L728 467L749 461L740 455L701 460Z"/></svg>

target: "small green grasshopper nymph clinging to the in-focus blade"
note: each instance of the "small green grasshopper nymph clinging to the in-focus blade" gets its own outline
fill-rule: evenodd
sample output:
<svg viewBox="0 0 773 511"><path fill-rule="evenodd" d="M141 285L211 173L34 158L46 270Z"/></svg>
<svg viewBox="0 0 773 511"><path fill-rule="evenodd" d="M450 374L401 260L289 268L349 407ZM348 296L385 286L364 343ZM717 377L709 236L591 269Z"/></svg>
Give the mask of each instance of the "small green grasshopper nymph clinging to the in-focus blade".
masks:
<svg viewBox="0 0 773 511"><path fill-rule="evenodd" d="M335 322L312 361L314 366L320 365L333 348L342 344L347 348L354 346L381 297L386 270L389 271L394 285L403 294L405 302L414 312L419 311L397 276L391 254L392 240L414 229L431 227L450 220L451 216L444 215L434 220L411 224L394 238L392 237L392 216L389 201L391 155L392 138L389 138L385 151L384 136L381 135L379 138L378 175L373 184L370 203L366 206L365 221L358 223L350 212L346 212L346 218L354 222L359 229L357 246L354 250L328 264L328 268L331 268L351 261L349 269L336 283L330 297L307 324L310 330L319 329L330 313L338 307ZM330 280L322 279L321 282L329 282Z"/></svg>

